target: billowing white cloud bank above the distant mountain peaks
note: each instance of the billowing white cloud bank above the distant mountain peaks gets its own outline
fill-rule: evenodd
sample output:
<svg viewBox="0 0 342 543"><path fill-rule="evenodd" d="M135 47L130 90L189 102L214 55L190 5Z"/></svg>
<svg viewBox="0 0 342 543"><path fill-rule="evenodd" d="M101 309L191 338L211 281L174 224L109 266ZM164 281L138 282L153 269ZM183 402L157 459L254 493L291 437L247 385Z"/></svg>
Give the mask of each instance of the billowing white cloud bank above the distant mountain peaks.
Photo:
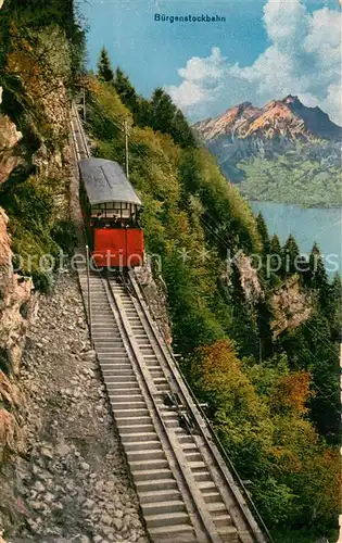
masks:
<svg viewBox="0 0 342 543"><path fill-rule="evenodd" d="M214 47L210 56L194 56L179 68L182 81L166 90L190 117L217 114L243 100L262 104L291 93L342 124L342 14L326 7L309 14L302 0L268 0L264 24L270 45L252 65L230 65Z"/></svg>

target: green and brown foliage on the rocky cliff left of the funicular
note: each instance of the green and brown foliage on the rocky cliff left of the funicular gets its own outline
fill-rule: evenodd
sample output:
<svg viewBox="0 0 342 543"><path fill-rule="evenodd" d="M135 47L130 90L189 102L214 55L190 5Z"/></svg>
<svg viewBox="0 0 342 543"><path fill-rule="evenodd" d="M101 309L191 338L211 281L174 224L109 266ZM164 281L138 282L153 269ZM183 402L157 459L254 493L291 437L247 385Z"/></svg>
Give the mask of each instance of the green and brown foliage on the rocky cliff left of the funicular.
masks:
<svg viewBox="0 0 342 543"><path fill-rule="evenodd" d="M50 108L59 114L62 92L74 91L85 59L85 33L73 0L5 0L0 17L1 112L23 135L15 150L22 165L1 186L0 205L10 216L16 270L33 276L35 287L47 292L61 247L71 252L75 232L58 218L61 211L54 205L64 180L56 179L56 172L53 178L39 176L35 153L40 148L47 160L68 137L67 123L52 119Z"/></svg>

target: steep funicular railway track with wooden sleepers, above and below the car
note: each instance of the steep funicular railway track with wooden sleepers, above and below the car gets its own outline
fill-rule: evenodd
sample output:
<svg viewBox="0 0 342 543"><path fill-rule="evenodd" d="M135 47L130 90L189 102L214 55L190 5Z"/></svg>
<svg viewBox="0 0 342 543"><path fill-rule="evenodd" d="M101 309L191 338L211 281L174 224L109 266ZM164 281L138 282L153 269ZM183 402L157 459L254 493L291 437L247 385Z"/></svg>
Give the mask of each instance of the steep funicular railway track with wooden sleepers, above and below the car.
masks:
<svg viewBox="0 0 342 543"><path fill-rule="evenodd" d="M76 111L72 127L78 130L75 144L86 143ZM76 154L85 157L87 149ZM151 541L270 542L221 458L134 275L88 275L85 266L79 266L78 275L93 346Z"/></svg>

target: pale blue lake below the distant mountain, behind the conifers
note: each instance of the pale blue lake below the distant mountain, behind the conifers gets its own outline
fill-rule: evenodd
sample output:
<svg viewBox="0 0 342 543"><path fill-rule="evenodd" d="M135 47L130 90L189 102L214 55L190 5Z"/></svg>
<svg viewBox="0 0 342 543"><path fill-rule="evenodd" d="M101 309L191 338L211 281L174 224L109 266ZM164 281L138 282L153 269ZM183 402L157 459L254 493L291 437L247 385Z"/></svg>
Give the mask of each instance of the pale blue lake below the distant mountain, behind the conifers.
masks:
<svg viewBox="0 0 342 543"><path fill-rule="evenodd" d="M290 233L301 252L309 253L314 242L325 256L329 276L338 269L342 273L342 210L338 207L301 207L274 202L250 202L254 213L265 217L268 232L277 233L283 243Z"/></svg>

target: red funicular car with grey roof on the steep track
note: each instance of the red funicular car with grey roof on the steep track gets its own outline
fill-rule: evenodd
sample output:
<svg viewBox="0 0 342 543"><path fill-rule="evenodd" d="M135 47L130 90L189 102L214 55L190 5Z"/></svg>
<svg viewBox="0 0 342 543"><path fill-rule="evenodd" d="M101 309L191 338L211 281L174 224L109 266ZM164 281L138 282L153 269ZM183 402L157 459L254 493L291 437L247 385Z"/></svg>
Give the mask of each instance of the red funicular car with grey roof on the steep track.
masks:
<svg viewBox="0 0 342 543"><path fill-rule="evenodd" d="M122 167L113 161L78 162L79 198L91 255L101 267L143 264L142 203Z"/></svg>

